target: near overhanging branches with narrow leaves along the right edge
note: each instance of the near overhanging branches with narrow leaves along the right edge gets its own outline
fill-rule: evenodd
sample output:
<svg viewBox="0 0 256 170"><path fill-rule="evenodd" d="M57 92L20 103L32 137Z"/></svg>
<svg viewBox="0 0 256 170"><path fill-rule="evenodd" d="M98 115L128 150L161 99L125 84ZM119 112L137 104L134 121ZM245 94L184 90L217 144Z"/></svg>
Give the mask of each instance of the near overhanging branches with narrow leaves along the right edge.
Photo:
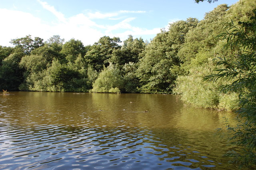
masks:
<svg viewBox="0 0 256 170"><path fill-rule="evenodd" d="M233 62L225 57L215 59L218 66L214 69L216 73L206 76L205 80L216 82L218 79L228 79L231 83L223 86L222 91L239 94L240 109L236 112L238 125L229 126L229 129L233 131L232 144L244 146L245 149L242 153L229 151L226 156L233 157L232 162L238 162L242 167L256 165L256 8L250 21L238 24L228 23L226 32L220 36L227 41L226 49L239 47L242 53L236 54L237 61Z"/></svg>

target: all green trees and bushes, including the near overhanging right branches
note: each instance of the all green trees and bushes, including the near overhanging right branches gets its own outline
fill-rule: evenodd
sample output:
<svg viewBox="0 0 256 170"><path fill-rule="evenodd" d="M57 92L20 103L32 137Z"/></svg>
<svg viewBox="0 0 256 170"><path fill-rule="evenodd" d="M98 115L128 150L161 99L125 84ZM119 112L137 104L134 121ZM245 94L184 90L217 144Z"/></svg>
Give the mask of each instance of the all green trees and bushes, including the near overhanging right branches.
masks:
<svg viewBox="0 0 256 170"><path fill-rule="evenodd" d="M0 46L0 89L180 94L196 107L236 111L239 123L228 127L230 140L246 149L227 155L240 166L256 165L255 35L252 0L221 4L201 21L174 22L150 42L104 36L84 46L28 35L12 39L14 47Z"/></svg>

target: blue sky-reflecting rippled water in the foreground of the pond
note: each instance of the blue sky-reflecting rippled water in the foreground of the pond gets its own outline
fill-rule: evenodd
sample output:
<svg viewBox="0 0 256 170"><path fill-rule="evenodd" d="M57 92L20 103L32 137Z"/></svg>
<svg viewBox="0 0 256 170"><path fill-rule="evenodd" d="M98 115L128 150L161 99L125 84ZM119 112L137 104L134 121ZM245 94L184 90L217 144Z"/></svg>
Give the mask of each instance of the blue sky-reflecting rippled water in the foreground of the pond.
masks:
<svg viewBox="0 0 256 170"><path fill-rule="evenodd" d="M144 137L143 133L147 129L124 126L114 129L88 129L56 124L36 125L30 129L11 130L10 133L3 132L3 129L5 128L1 127L0 168L5 169L40 168L42 164L61 169L62 166L56 164L66 165L68 162L76 162L72 168L80 169L84 168L84 165L87 168L116 166L136 169L145 165L160 169L194 168L194 163L202 162L204 159L198 156L198 152L188 148L185 152L184 146L168 147L168 144L162 143L159 138ZM34 133L25 134L24 131L28 130ZM180 156L176 156L177 153ZM181 156L186 158L181 161ZM24 161L30 159L33 159L34 163ZM14 163L4 163L10 162L9 160ZM151 160L155 160L155 163ZM209 159L205 159L204 162L208 162L208 165L203 165L204 167L216 166L218 163Z"/></svg>

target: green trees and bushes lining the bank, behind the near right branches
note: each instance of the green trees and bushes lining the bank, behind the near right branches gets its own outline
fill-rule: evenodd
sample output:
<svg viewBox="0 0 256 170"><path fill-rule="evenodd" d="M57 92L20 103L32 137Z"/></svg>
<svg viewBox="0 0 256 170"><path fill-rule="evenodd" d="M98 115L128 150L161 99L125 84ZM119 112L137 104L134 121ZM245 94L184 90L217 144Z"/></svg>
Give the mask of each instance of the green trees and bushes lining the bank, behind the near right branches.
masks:
<svg viewBox="0 0 256 170"><path fill-rule="evenodd" d="M199 2L199 1L196 1ZM212 1L211 1L212 2ZM9 91L181 94L196 107L236 111L238 93L223 93L232 79L204 81L216 73L214 58L236 61L243 49L224 49L223 23L247 22L256 3L240 0L219 5L203 20L170 24L151 42L129 35L104 36L93 45L60 36L12 39L0 46L0 88Z"/></svg>

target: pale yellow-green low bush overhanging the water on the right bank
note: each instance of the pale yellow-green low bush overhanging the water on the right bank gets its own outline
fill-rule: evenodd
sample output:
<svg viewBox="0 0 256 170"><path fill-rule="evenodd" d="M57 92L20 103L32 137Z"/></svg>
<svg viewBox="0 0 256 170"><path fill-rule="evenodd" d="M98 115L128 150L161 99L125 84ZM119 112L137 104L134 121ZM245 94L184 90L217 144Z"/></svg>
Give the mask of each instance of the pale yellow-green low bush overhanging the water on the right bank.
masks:
<svg viewBox="0 0 256 170"><path fill-rule="evenodd" d="M212 62L213 52L198 53L196 58L191 60L188 75L179 75L175 93L182 94L181 98L186 103L196 107L211 108L217 110L235 110L236 93L220 93L220 87L228 81L203 81L205 75L212 73L215 67Z"/></svg>

